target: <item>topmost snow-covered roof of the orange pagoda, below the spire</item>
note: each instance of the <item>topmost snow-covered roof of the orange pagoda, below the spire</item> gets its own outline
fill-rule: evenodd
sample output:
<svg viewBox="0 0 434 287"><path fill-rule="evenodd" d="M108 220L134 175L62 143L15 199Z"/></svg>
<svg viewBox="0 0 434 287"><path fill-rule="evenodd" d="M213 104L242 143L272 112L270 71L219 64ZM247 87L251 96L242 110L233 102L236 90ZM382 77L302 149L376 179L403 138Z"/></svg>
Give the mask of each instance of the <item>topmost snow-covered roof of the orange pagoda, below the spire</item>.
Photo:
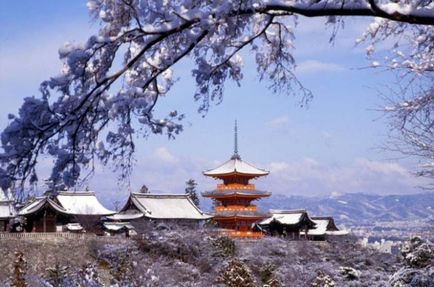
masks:
<svg viewBox="0 0 434 287"><path fill-rule="evenodd" d="M217 168L210 169L203 172L204 175L219 177L231 174L242 174L246 176L264 176L269 174L268 171L259 169L251 165L250 163L241 160L237 157L232 157Z"/></svg>

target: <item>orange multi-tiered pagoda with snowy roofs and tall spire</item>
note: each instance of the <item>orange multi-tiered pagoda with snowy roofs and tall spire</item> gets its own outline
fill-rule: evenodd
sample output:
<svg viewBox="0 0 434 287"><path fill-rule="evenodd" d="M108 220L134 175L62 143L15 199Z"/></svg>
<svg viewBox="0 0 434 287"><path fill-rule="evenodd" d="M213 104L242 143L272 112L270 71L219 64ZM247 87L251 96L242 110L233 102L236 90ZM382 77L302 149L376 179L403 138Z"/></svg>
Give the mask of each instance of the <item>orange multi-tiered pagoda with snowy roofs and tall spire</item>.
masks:
<svg viewBox="0 0 434 287"><path fill-rule="evenodd" d="M204 171L205 176L220 179L217 189L205 191L203 197L214 201L214 220L221 228L221 233L230 237L261 238L262 232L253 231L253 224L266 217L257 211L252 201L268 197L270 192L257 190L249 180L268 175L268 171L254 167L241 160L238 154L238 131L235 121L235 145L232 157L211 170Z"/></svg>

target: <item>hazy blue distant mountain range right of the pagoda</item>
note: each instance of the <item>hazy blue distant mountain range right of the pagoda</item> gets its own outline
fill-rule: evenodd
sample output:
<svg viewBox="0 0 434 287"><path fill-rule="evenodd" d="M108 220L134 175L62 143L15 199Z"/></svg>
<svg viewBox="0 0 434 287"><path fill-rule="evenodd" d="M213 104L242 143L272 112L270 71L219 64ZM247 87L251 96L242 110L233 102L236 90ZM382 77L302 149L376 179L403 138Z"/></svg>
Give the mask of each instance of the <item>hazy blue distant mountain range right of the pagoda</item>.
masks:
<svg viewBox="0 0 434 287"><path fill-rule="evenodd" d="M331 215L338 224L434 219L434 192L408 195L349 193L327 198L274 194L257 204L263 211L306 209L311 216Z"/></svg>

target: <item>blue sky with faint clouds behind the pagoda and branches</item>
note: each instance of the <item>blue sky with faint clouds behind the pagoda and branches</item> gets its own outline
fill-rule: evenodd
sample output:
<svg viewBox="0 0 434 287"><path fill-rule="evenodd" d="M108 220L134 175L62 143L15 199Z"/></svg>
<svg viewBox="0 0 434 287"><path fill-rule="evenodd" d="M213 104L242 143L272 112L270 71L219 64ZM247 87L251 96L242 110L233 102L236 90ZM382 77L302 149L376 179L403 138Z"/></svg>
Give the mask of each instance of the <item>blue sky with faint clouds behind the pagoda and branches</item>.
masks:
<svg viewBox="0 0 434 287"><path fill-rule="evenodd" d="M378 90L393 85L386 72L369 66L355 39L367 19L348 19L336 42L328 39L323 19L300 19L296 31L296 74L312 90L308 108L299 97L273 95L260 83L252 59L244 53L241 87L228 84L225 98L205 117L193 100L194 81L188 60L178 65L180 80L160 101L163 115L172 109L186 114L185 131L176 140L150 136L138 140L137 165L130 186L116 184L109 168L98 167L89 182L106 202L145 183L151 190L183 192L194 178L199 189L214 180L201 171L228 159L233 149L233 123L239 123L243 159L271 171L257 182L262 189L288 195L329 195L345 192L414 193L424 180L409 170L416 162L379 149L387 139L387 121L375 111L383 104ZM56 75L57 51L66 41L83 42L98 28L90 21L85 1L10 1L0 10L0 128L16 113L22 99L38 95L41 81ZM49 160L41 163L42 174Z"/></svg>

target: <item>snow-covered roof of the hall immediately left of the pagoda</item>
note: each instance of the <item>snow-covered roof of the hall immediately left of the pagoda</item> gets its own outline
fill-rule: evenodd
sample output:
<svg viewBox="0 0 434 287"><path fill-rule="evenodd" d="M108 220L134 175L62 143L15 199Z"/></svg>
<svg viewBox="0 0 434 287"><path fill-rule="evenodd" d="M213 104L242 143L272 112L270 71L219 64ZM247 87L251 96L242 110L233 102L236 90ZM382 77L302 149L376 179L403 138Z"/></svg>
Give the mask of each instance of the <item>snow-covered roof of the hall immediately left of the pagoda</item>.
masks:
<svg viewBox="0 0 434 287"><path fill-rule="evenodd" d="M146 217L153 219L209 219L184 194L132 193L130 200Z"/></svg>

